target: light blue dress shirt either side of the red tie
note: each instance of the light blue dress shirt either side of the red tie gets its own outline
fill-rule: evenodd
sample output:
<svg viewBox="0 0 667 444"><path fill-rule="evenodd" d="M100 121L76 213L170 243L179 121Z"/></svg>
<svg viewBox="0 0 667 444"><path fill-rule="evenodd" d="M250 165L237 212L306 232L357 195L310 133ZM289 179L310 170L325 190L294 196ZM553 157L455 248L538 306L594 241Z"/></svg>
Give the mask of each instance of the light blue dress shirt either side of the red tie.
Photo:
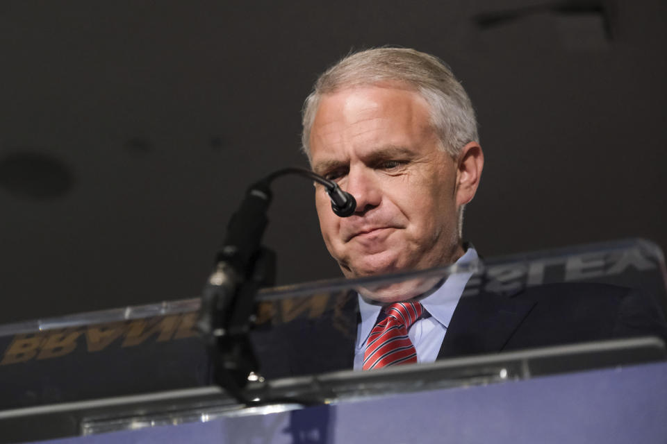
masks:
<svg viewBox="0 0 667 444"><path fill-rule="evenodd" d="M459 257L456 264L468 264L477 260L477 251L470 246L466 253ZM447 326L450 325L454 309L466 288L470 273L450 275L436 291L420 300L424 314L410 327L408 336L417 350L417 362L434 362L438 357L440 346L445 339ZM359 295L359 313L361 322L356 328L356 347L354 348L354 370L361 370L365 343L373 329L382 309L382 305L366 302Z"/></svg>

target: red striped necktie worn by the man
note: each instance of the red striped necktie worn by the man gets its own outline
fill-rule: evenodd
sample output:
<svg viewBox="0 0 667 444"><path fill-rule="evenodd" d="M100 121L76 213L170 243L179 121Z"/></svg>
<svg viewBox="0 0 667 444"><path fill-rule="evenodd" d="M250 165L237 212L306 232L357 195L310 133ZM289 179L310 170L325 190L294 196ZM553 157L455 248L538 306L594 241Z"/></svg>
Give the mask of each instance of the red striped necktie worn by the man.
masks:
<svg viewBox="0 0 667 444"><path fill-rule="evenodd" d="M366 341L364 370L417 362L417 352L408 337L408 329L422 316L422 305L419 302L397 302L384 311L386 318L375 324Z"/></svg>

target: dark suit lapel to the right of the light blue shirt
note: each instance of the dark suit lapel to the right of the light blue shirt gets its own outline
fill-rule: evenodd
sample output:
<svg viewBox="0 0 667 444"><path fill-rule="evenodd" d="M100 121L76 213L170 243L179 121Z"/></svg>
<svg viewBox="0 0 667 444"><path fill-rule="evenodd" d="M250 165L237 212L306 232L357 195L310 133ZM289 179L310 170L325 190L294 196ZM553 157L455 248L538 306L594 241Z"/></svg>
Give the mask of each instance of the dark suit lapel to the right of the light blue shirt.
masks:
<svg viewBox="0 0 667 444"><path fill-rule="evenodd" d="M462 296L438 359L500 352L534 305L483 290L474 296Z"/></svg>

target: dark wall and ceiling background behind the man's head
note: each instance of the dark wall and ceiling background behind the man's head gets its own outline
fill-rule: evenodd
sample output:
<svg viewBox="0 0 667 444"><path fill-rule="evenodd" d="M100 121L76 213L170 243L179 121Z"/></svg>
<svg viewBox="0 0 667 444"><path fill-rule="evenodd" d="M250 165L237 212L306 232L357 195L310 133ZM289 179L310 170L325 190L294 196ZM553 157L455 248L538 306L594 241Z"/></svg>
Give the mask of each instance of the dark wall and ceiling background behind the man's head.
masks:
<svg viewBox="0 0 667 444"><path fill-rule="evenodd" d="M197 296L249 182L306 165L317 74L384 44L440 56L472 97L483 255L667 246L664 0L227 3L1 3L0 322ZM311 185L274 193L279 283L337 277Z"/></svg>

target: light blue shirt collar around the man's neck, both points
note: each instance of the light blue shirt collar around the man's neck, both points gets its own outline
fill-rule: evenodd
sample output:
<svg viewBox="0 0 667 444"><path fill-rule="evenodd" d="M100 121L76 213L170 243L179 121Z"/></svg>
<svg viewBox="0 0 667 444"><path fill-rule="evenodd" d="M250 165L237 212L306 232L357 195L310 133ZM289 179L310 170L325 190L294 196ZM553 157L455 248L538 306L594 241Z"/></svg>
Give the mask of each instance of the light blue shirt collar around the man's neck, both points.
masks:
<svg viewBox="0 0 667 444"><path fill-rule="evenodd" d="M477 258L477 251L475 250L475 247L471 245L468 247L468 250L466 250L466 253L459 257L456 264L469 264L470 262L475 262ZM420 300L426 311L445 327L450 325L454 309L456 309L456 305L459 303L463 289L466 288L470 276L472 276L472 271L469 273L456 273L450 275L445 282L440 285L440 288L426 298ZM370 330L373 329L382 306L366 302L361 295L358 296L358 299L361 325L359 325L359 328L357 329L356 348L360 349L365 344L366 339L370 334Z"/></svg>

